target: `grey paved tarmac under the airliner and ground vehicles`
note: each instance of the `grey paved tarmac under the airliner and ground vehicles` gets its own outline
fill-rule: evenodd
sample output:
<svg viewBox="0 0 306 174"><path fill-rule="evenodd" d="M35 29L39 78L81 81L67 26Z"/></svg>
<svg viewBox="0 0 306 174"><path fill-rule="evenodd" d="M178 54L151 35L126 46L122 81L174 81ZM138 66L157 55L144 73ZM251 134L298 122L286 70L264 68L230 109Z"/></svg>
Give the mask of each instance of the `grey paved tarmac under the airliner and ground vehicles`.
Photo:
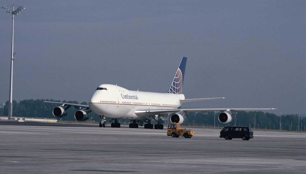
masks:
<svg viewBox="0 0 306 174"><path fill-rule="evenodd" d="M255 130L243 141L218 129L172 138L143 127L10 124L0 124L0 173L306 173L306 133Z"/></svg>

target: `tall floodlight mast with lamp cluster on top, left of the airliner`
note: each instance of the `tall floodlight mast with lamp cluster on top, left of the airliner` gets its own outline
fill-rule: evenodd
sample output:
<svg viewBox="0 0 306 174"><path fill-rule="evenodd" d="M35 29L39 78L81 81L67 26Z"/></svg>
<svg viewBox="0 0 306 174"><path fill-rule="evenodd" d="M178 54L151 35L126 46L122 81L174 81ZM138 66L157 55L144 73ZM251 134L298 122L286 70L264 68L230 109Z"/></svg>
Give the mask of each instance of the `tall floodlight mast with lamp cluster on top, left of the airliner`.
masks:
<svg viewBox="0 0 306 174"><path fill-rule="evenodd" d="M9 9L9 7L13 7L13 10ZM15 58L13 57L15 55L14 51L14 15L18 15L18 13L21 13L23 9L25 9L23 6L18 6L18 8L15 10L15 6L6 6L3 5L2 9L6 9L8 13L11 13L12 16L12 50L11 50L11 75L9 80L9 112L8 112L8 120L12 118L13 115L13 61Z"/></svg>

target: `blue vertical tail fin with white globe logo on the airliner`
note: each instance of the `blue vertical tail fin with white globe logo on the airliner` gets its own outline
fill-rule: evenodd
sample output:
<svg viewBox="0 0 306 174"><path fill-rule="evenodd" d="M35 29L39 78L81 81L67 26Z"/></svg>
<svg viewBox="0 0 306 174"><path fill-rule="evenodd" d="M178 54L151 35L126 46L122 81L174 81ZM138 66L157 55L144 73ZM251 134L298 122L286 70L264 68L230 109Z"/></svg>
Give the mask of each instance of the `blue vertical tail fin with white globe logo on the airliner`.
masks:
<svg viewBox="0 0 306 174"><path fill-rule="evenodd" d="M187 62L187 57L183 57L180 66L178 67L176 74L173 78L173 81L170 85L168 93L182 94L186 62Z"/></svg>

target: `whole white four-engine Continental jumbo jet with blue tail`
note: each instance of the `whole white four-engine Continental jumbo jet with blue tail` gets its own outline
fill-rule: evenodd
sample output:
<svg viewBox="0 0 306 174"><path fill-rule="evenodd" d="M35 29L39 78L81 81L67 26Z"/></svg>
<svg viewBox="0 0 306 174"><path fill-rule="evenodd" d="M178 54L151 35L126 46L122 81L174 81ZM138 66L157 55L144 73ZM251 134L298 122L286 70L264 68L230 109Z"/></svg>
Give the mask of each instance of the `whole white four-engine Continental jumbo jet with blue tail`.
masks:
<svg viewBox="0 0 306 174"><path fill-rule="evenodd" d="M44 101L47 103L60 104L55 107L52 114L55 117L63 117L67 115L66 110L71 106L79 108L76 111L74 118L77 121L85 121L89 119L88 113L93 112L99 115L101 122L99 127L106 127L106 117L111 118L111 127L120 127L118 122L120 119L129 119L132 123L129 128L138 128L143 126L145 129L153 129L152 121L155 120L156 124L154 129L163 129L163 120L170 116L171 123L183 123L185 115L188 112L201 112L207 114L208 112L220 111L218 120L221 123L230 123L233 118L232 112L241 110L271 110L275 108L194 108L185 109L180 108L182 104L190 101L213 100L223 99L218 98L195 98L185 99L182 94L185 67L187 57L181 59L181 63L175 73L172 83L166 93L156 92L142 92L130 91L123 87L112 84L101 84L92 94L88 105L79 105L72 103L61 103L53 101Z"/></svg>

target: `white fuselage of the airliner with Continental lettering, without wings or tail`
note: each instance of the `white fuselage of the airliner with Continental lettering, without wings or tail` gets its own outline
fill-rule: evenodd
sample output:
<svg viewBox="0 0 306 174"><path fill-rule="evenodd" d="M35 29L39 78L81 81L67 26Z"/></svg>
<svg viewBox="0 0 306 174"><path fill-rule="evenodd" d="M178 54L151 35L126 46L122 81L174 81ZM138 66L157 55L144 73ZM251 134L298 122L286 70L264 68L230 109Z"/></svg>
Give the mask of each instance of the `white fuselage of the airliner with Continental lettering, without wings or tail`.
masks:
<svg viewBox="0 0 306 174"><path fill-rule="evenodd" d="M116 85L102 84L92 94L89 107L95 114L108 118L140 120L149 118L137 116L135 110L176 109L184 99L184 94L129 91Z"/></svg>

